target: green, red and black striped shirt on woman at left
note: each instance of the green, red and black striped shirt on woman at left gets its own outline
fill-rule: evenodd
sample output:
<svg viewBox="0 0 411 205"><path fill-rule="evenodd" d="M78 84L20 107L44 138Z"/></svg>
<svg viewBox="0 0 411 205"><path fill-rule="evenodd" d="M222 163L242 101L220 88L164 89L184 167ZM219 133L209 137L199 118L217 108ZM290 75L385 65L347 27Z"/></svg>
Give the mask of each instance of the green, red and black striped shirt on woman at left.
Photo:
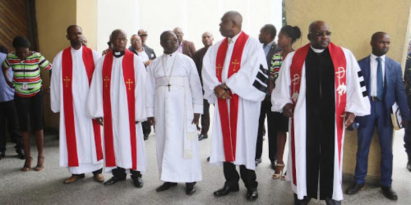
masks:
<svg viewBox="0 0 411 205"><path fill-rule="evenodd" d="M3 67L13 69L15 93L22 97L31 97L39 93L42 87L40 67L49 71L51 64L38 52L33 52L25 60L19 59L15 53L9 53L3 61Z"/></svg>

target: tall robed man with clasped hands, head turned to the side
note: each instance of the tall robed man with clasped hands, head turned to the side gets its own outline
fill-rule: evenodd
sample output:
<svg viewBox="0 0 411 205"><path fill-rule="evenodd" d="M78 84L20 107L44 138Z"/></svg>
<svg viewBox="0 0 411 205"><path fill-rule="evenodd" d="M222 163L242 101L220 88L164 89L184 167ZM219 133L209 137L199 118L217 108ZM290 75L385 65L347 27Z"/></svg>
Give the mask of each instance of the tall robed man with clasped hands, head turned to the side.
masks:
<svg viewBox="0 0 411 205"><path fill-rule="evenodd" d="M214 196L239 190L238 165L247 199L255 200L255 145L261 101L267 90L267 60L258 40L241 31L241 23L236 11L222 16L220 33L226 38L204 56L202 80L204 99L215 106L210 163L222 163L226 178Z"/></svg>

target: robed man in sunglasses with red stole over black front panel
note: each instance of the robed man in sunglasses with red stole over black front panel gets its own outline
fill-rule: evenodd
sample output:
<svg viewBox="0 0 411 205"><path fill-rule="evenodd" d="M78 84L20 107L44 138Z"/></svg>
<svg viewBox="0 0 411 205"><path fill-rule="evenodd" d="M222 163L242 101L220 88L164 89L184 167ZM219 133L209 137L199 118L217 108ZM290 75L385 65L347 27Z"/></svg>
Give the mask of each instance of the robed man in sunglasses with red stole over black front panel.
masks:
<svg viewBox="0 0 411 205"><path fill-rule="evenodd" d="M272 111L290 117L287 180L295 204L318 197L341 204L344 130L370 112L356 58L330 35L325 22L311 23L310 43L287 55L272 93Z"/></svg>

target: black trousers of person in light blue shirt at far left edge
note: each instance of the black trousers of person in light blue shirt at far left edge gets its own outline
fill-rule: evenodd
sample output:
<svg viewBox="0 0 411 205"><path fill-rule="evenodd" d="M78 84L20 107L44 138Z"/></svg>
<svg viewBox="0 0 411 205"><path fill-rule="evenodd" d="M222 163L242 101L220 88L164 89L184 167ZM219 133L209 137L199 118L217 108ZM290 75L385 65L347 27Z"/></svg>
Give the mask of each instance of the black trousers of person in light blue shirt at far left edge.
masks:
<svg viewBox="0 0 411 205"><path fill-rule="evenodd" d="M14 100L0 102L0 151L6 150L6 124L9 136L16 144L14 148L16 150L22 150L22 135L18 129L17 111Z"/></svg>

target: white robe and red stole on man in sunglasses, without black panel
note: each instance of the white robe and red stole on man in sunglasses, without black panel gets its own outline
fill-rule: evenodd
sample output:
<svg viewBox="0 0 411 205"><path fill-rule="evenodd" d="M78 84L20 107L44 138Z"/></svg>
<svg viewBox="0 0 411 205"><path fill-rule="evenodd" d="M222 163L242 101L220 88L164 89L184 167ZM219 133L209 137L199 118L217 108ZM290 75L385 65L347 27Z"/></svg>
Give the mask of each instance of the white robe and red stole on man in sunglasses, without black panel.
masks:
<svg viewBox="0 0 411 205"><path fill-rule="evenodd" d="M294 115L289 120L289 156L287 161L287 180L298 199L307 196L306 164L306 67L305 60L310 45L292 52L284 59L272 93L272 111L283 112L283 107L294 104ZM332 199L342 200L342 162L344 144L344 112L356 116L368 115L369 101L357 60L351 51L330 43L329 53L334 67L334 157ZM313 51L315 51L313 49ZM319 51L321 52L321 51ZM361 83L362 82L362 83ZM311 120L311 119L310 119ZM315 120L315 119L312 119Z"/></svg>

